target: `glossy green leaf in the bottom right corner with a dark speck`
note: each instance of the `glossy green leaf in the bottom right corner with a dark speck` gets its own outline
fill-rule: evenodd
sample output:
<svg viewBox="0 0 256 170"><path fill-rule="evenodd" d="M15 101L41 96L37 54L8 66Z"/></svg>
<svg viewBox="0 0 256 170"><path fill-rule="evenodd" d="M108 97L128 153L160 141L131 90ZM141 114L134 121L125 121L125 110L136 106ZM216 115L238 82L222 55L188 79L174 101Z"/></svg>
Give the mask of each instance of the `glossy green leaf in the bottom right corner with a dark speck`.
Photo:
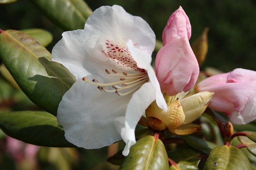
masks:
<svg viewBox="0 0 256 170"><path fill-rule="evenodd" d="M252 170L244 152L234 146L219 146L212 150L204 170Z"/></svg>

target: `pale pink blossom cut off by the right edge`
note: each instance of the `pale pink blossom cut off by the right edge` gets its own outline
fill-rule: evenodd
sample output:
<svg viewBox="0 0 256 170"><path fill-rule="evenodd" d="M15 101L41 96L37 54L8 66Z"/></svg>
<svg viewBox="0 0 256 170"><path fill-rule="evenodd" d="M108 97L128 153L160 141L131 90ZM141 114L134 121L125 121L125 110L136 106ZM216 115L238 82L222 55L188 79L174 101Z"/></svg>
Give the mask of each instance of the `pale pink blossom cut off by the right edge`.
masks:
<svg viewBox="0 0 256 170"><path fill-rule="evenodd" d="M233 123L246 124L256 119L256 72L236 68L200 82L198 92L214 92L210 108L222 111Z"/></svg>

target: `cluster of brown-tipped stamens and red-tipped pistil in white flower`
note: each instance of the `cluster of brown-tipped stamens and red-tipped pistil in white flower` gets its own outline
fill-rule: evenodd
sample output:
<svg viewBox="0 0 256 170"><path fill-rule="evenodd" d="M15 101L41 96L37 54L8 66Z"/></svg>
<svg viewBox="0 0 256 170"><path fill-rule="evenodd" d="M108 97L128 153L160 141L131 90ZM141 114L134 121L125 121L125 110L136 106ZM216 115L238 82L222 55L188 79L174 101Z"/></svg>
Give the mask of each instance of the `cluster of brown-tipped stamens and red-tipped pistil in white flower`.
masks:
<svg viewBox="0 0 256 170"><path fill-rule="evenodd" d="M116 79L118 81L110 83L100 83L98 80L95 79L89 81L86 79L86 77L84 77L83 80L87 83L97 86L97 88L102 92L115 92L119 96L125 96L134 92L149 80L147 72L118 73L114 69L111 70L112 72L110 72L108 69L105 69L105 71L109 76L116 76ZM120 91L123 93L121 93Z"/></svg>

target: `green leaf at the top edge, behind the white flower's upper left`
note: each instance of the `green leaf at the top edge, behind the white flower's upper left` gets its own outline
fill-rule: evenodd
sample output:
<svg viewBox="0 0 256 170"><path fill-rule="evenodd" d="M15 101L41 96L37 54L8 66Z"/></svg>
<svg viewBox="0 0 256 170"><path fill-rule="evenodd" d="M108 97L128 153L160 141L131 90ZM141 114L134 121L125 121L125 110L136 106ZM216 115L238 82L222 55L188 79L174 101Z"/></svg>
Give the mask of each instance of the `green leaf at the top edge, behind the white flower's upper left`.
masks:
<svg viewBox="0 0 256 170"><path fill-rule="evenodd" d="M84 29L92 10L83 0L30 0L53 23L64 30Z"/></svg>

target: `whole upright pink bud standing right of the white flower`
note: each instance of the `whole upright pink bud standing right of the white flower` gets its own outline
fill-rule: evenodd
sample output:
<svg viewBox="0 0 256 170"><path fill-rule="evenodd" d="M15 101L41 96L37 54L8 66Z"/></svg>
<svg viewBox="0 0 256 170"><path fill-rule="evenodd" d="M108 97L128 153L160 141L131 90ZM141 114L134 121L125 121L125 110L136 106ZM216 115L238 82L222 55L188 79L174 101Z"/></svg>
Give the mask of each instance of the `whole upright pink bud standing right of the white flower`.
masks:
<svg viewBox="0 0 256 170"><path fill-rule="evenodd" d="M187 92L198 78L199 66L188 41L190 37L190 21L180 6L164 28L164 46L158 51L155 63L161 90L169 96Z"/></svg>

